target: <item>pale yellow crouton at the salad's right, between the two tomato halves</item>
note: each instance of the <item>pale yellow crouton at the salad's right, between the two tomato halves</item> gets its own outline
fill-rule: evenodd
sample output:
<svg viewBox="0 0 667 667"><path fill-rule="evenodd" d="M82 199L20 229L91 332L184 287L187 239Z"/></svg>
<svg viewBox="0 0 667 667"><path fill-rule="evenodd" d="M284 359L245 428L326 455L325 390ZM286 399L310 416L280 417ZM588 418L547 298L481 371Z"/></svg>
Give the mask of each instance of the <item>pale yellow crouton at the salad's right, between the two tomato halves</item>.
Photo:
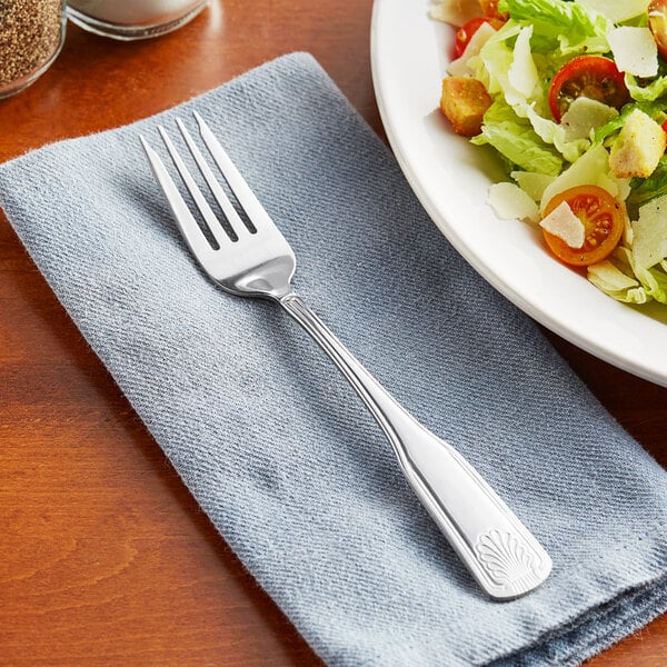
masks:
<svg viewBox="0 0 667 667"><path fill-rule="evenodd" d="M650 116L635 109L611 147L609 167L616 178L648 178L665 152L665 130Z"/></svg>

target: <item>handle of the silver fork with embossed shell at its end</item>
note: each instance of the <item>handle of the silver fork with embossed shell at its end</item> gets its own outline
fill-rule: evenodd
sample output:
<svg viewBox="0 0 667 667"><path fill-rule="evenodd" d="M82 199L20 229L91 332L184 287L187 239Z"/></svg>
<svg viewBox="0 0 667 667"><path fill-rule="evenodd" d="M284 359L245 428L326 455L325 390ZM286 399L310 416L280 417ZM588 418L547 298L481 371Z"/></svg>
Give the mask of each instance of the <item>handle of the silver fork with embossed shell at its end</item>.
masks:
<svg viewBox="0 0 667 667"><path fill-rule="evenodd" d="M504 600L539 586L551 569L549 555L475 468L409 415L299 296L278 301L366 404L415 494L482 590Z"/></svg>

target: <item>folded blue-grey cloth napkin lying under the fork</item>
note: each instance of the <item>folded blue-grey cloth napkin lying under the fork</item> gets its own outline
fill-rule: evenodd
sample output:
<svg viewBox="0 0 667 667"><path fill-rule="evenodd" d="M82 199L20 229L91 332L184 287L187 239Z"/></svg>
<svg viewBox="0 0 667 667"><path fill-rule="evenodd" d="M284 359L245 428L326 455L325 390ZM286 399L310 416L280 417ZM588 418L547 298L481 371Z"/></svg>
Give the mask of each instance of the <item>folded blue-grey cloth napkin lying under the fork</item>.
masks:
<svg viewBox="0 0 667 667"><path fill-rule="evenodd" d="M139 145L197 109L291 242L295 286L554 559L488 601L380 430L276 306L197 267ZM452 165L452 169L456 168ZM452 250L390 151L291 54L0 167L39 269L221 535L330 665L574 665L667 609L667 475Z"/></svg>

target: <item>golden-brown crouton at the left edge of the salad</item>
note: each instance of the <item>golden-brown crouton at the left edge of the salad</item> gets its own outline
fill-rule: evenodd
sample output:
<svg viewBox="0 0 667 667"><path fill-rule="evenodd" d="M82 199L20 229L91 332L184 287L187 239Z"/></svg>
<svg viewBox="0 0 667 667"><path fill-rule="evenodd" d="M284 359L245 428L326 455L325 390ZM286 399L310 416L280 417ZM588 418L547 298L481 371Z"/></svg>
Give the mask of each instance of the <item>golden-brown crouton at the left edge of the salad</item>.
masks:
<svg viewBox="0 0 667 667"><path fill-rule="evenodd" d="M484 115L490 106L491 98L481 81L470 77L442 79L440 110L457 135L479 135Z"/></svg>

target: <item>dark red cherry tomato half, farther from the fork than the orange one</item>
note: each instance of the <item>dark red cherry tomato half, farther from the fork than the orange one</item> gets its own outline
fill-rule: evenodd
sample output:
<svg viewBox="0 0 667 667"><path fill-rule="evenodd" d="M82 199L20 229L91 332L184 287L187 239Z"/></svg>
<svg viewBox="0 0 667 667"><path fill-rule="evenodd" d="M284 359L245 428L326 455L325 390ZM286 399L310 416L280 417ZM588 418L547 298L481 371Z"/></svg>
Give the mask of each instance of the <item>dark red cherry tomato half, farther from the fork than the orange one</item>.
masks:
<svg viewBox="0 0 667 667"><path fill-rule="evenodd" d="M616 63L601 56L573 58L556 72L549 87L549 109L554 118L560 122L567 108L583 96L616 109L630 99Z"/></svg>

